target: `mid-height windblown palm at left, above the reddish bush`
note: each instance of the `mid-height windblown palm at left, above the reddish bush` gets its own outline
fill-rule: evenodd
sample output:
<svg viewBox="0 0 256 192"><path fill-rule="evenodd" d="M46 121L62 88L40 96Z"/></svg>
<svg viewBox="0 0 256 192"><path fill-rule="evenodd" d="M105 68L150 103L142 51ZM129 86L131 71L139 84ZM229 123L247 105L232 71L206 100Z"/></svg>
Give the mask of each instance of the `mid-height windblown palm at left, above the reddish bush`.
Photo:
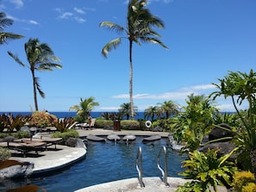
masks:
<svg viewBox="0 0 256 192"><path fill-rule="evenodd" d="M60 59L54 56L53 50L46 43L40 43L38 39L29 39L27 43L25 43L25 53L27 55L28 64L25 65L22 63L20 59L13 53L9 53L9 56L16 60L19 65L27 66L31 71L32 79L33 79L33 91L34 91L34 108L38 110L37 103L37 94L36 90L38 90L39 94L42 98L45 97L45 93L41 90L39 84L39 77L35 77L35 71L53 71L53 68L62 68L62 65L59 65L55 62L59 62Z"/></svg>

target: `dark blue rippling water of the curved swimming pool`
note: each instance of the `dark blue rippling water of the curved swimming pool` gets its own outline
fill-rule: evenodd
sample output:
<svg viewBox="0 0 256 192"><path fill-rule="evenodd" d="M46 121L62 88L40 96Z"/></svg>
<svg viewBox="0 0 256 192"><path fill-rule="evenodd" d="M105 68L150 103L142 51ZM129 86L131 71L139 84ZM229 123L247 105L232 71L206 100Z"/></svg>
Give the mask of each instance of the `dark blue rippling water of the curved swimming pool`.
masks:
<svg viewBox="0 0 256 192"><path fill-rule="evenodd" d="M143 177L161 177L157 168L157 157L162 146L168 154L168 177L179 177L183 171L178 152L172 151L169 139L160 139L143 144L137 137L128 146L125 142L88 142L86 157L77 164L47 176L29 177L15 183L35 184L47 192L71 192L91 185L138 177L135 167L138 148L142 149Z"/></svg>

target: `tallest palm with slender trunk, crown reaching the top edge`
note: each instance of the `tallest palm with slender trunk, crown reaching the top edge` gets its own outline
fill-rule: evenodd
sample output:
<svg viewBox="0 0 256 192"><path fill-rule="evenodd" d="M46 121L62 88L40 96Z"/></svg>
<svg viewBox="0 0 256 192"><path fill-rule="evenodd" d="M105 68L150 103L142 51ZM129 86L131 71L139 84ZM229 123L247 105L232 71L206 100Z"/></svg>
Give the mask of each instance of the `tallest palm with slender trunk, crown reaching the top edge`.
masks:
<svg viewBox="0 0 256 192"><path fill-rule="evenodd" d="M126 38L129 41L129 97L131 111L131 119L134 120L134 101L133 101L133 61L132 50L133 43L137 43L140 46L140 42L150 42L159 44L167 49L159 38L158 33L153 30L153 27L164 28L164 22L158 17L152 15L149 9L146 9L147 0L129 0L128 2L128 14L127 14L127 28L113 23L113 22L101 22L100 27L109 28L115 30L117 33L125 32L127 37L118 37L115 40L110 40L105 46L103 46L102 53L104 57L107 57L109 52L121 44L122 38Z"/></svg>

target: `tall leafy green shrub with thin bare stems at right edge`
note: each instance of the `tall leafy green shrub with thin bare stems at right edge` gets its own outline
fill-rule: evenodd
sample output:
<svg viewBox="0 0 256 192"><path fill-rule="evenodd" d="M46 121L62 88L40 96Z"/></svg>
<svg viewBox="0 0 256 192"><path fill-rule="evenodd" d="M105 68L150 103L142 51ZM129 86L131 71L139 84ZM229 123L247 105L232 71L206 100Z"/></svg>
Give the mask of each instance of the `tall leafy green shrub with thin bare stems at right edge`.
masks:
<svg viewBox="0 0 256 192"><path fill-rule="evenodd" d="M239 149L237 152L243 157L245 154L249 155L251 169L256 174L256 72L253 69L248 74L229 71L228 76L218 80L220 84L214 84L218 90L210 96L213 96L214 100L217 96L231 98L242 125L235 137L235 145ZM239 106L244 102L247 102L249 107L241 112Z"/></svg>

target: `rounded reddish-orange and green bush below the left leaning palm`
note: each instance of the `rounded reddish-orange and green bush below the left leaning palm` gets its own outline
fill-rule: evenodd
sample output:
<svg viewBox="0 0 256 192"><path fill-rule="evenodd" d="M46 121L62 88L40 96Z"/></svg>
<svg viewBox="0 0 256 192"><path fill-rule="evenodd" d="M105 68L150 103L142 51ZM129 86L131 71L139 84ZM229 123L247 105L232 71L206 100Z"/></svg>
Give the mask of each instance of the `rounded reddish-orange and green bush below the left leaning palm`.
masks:
<svg viewBox="0 0 256 192"><path fill-rule="evenodd" d="M28 121L29 126L34 127L53 127L54 123L58 121L55 115L50 115L46 112L36 111L31 115L31 119Z"/></svg>

